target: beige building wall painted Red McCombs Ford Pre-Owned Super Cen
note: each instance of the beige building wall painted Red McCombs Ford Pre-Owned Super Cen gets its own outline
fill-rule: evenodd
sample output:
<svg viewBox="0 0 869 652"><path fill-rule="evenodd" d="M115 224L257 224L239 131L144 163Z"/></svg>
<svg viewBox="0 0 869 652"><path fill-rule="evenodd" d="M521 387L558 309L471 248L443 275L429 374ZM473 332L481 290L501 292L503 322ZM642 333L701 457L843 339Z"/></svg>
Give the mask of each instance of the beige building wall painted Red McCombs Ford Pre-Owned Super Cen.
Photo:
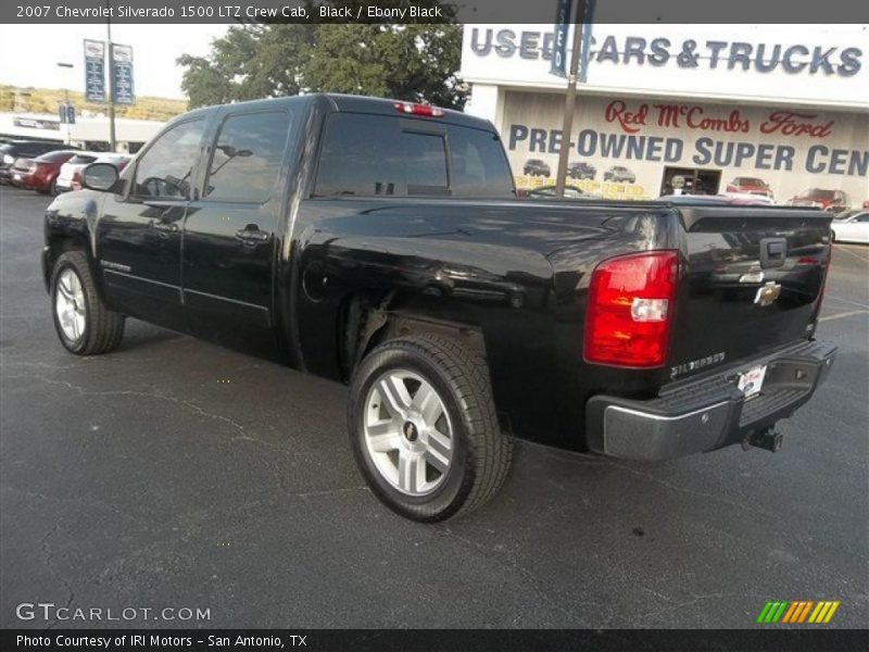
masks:
<svg viewBox="0 0 869 652"><path fill-rule="evenodd" d="M525 171L530 161L555 170L563 109L555 93L504 92L500 129L519 186L551 183ZM780 202L809 187L869 197L867 113L584 97L574 125L569 160L584 167L570 183L605 197L657 197L668 168L718 173L708 191L759 178Z"/></svg>

